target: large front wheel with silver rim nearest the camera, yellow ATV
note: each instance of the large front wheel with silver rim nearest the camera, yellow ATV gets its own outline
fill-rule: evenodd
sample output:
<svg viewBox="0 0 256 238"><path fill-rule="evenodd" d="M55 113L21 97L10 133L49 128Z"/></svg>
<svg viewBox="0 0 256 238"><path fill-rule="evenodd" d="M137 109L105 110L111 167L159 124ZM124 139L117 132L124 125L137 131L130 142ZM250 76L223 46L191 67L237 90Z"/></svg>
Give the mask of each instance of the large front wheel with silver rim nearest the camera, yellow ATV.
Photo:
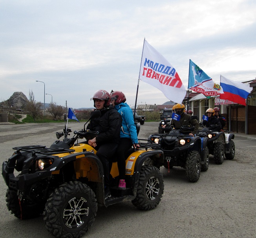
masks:
<svg viewBox="0 0 256 238"><path fill-rule="evenodd" d="M49 196L44 222L53 236L78 238L89 230L96 213L97 201L90 187L81 182L68 182Z"/></svg>

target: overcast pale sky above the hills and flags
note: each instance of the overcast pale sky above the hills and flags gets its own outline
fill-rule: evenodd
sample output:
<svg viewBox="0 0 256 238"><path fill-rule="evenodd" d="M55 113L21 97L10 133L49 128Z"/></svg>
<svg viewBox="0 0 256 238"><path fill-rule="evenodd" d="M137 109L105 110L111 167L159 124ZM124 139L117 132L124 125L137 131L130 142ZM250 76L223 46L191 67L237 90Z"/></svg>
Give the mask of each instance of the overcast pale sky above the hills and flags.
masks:
<svg viewBox="0 0 256 238"><path fill-rule="evenodd" d="M144 37L188 87L191 59L220 74L256 77L255 0L0 0L0 101L14 92L68 107L92 107L98 89L135 104ZM45 95L45 102L51 102ZM168 99L139 82L137 104Z"/></svg>

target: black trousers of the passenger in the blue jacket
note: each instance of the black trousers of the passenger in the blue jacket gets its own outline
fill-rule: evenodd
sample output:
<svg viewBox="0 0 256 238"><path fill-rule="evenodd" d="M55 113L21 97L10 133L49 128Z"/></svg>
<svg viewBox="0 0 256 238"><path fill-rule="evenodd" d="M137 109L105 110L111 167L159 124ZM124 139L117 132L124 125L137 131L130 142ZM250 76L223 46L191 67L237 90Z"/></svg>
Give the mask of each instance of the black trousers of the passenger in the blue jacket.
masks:
<svg viewBox="0 0 256 238"><path fill-rule="evenodd" d="M117 167L119 171L119 179L125 179L125 161L126 152L132 147L132 141L130 138L121 138L117 148Z"/></svg>

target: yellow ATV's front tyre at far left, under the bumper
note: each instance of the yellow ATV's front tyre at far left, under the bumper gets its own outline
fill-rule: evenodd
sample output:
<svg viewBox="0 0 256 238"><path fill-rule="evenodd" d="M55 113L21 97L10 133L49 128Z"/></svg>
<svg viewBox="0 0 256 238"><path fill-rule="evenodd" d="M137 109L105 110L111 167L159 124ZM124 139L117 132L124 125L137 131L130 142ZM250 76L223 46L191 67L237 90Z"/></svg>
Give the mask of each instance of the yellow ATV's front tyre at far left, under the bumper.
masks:
<svg viewBox="0 0 256 238"><path fill-rule="evenodd" d="M20 220L35 218L44 211L38 203L31 202L25 198L23 198L19 203L17 191L15 190L7 189L5 196L8 210Z"/></svg>

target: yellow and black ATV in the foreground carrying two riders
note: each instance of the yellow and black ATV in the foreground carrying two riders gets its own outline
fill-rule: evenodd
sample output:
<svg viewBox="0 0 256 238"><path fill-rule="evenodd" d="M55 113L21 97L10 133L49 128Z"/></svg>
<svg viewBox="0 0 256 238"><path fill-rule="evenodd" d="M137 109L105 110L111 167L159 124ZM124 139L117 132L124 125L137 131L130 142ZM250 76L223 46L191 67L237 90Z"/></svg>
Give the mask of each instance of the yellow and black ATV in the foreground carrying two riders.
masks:
<svg viewBox="0 0 256 238"><path fill-rule="evenodd" d="M99 116L92 112L91 118ZM163 195L163 176L159 169L145 165L147 158L157 161L163 152L154 146L140 144L139 150L127 152L126 189L119 190L117 162L113 163L110 178L111 198L105 200L104 171L95 149L87 142L97 131L56 133L51 147L29 145L13 147L15 152L2 165L2 176L8 186L7 208L19 219L44 214L48 231L57 237L78 238L88 231L95 220L98 203L108 207L130 200L142 210L156 207ZM59 138L64 135L64 140ZM14 171L18 171L16 176Z"/></svg>

